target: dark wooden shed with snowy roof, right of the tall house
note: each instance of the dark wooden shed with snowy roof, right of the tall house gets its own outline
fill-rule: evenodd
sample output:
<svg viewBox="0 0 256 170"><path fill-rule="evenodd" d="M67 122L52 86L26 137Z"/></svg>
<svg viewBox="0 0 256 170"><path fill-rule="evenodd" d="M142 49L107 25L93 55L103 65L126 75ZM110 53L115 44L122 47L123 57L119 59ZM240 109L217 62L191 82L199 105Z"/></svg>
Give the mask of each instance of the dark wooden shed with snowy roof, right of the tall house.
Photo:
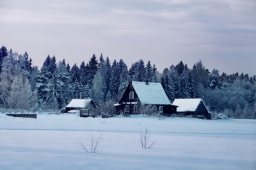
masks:
<svg viewBox="0 0 256 170"><path fill-rule="evenodd" d="M212 119L203 99L174 99L172 104L178 106L177 115L179 116Z"/></svg>

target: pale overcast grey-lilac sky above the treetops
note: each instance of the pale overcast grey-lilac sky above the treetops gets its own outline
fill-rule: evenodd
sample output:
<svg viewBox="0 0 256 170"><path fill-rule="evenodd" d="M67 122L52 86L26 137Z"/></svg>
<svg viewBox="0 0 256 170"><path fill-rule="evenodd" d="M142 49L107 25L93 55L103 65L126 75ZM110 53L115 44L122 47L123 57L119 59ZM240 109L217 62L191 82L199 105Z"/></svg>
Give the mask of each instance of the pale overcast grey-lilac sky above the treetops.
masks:
<svg viewBox="0 0 256 170"><path fill-rule="evenodd" d="M0 0L0 45L39 67L46 56L78 65L92 54L143 59L158 71L190 68L256 75L255 0Z"/></svg>

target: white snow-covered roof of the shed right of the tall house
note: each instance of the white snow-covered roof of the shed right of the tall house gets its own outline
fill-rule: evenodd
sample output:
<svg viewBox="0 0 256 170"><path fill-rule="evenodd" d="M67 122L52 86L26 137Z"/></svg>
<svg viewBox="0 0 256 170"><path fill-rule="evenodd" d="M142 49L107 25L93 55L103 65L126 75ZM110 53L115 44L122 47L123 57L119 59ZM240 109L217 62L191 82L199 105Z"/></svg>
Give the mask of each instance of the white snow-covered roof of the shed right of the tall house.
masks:
<svg viewBox="0 0 256 170"><path fill-rule="evenodd" d="M202 99L174 99L173 105L177 105L177 112L195 112ZM204 103L203 103L204 104Z"/></svg>

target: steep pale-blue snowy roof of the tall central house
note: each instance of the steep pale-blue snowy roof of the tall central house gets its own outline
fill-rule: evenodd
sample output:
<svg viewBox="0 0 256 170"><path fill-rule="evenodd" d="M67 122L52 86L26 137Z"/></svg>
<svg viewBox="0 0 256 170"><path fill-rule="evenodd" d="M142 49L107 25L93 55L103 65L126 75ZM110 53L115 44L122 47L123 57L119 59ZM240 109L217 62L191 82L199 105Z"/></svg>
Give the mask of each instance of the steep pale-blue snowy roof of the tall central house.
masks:
<svg viewBox="0 0 256 170"><path fill-rule="evenodd" d="M142 104L170 105L170 101L162 88L161 83L132 82Z"/></svg>

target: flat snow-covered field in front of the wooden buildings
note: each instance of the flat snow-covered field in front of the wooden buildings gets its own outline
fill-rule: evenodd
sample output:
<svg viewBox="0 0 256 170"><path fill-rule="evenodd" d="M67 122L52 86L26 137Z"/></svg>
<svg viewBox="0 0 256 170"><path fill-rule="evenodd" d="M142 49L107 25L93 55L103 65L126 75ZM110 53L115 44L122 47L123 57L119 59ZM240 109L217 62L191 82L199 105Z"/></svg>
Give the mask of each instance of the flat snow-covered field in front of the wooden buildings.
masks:
<svg viewBox="0 0 256 170"><path fill-rule="evenodd" d="M143 149L148 128L154 146ZM102 134L98 153L86 153ZM0 114L0 169L256 169L255 120Z"/></svg>

